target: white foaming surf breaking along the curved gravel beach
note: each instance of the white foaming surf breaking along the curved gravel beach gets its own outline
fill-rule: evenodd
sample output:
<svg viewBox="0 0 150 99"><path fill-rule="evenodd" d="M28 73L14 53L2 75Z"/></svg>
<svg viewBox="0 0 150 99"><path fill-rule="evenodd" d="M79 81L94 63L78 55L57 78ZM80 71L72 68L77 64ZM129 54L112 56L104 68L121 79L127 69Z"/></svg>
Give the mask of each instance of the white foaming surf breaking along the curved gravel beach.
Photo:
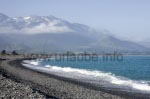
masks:
<svg viewBox="0 0 150 99"><path fill-rule="evenodd" d="M33 67L32 65L36 65ZM29 67L31 69L41 70L44 72L51 72L55 74L60 74L64 77L70 77L70 78L84 78L93 81L97 81L96 83L100 83L98 81L103 81L110 83L112 85L122 86L122 87L128 87L130 89L139 90L139 91L146 91L150 92L150 85L146 81L134 81L127 78L116 76L112 73L106 73L102 71L92 71L92 70L86 70L86 69L77 69L77 68L71 68L71 67L59 67L59 66L51 66L51 65L45 65L45 67L39 67L38 62L31 61L30 65L25 65L26 67ZM85 80L86 81L86 80Z"/></svg>

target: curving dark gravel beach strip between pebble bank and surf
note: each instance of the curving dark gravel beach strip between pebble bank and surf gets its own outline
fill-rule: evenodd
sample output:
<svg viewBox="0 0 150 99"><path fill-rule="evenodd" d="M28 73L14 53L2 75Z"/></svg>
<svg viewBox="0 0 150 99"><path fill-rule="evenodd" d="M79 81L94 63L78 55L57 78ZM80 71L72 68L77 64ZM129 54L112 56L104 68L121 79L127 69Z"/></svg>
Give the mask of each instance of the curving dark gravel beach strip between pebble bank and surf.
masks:
<svg viewBox="0 0 150 99"><path fill-rule="evenodd" d="M10 74L11 79L29 85L32 89L53 97L53 99L122 99L122 98L150 98L142 94L118 92L117 90L97 88L72 79L45 74L29 70L21 66L24 59L10 59L3 61L1 69Z"/></svg>

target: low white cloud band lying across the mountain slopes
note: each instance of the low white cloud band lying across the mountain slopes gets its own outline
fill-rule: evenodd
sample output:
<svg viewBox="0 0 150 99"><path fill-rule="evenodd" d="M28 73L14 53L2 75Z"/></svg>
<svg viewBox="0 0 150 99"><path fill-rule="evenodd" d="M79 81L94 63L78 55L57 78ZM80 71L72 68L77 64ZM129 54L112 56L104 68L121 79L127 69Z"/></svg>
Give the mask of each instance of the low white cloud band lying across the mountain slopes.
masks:
<svg viewBox="0 0 150 99"><path fill-rule="evenodd" d="M34 27L25 27L22 29L14 29L13 27L0 27L0 33L26 33L26 34L39 34L39 33L64 33L73 32L67 26L57 26L52 23L40 24Z"/></svg>

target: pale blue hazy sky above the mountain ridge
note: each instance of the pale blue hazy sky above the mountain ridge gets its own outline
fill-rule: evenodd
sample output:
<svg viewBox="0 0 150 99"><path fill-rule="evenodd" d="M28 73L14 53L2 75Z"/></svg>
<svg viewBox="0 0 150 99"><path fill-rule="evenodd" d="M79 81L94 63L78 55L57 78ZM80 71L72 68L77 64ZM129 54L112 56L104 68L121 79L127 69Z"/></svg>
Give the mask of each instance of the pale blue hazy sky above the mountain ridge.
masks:
<svg viewBox="0 0 150 99"><path fill-rule="evenodd" d="M150 0L0 0L0 13L53 15L123 39L150 41Z"/></svg>

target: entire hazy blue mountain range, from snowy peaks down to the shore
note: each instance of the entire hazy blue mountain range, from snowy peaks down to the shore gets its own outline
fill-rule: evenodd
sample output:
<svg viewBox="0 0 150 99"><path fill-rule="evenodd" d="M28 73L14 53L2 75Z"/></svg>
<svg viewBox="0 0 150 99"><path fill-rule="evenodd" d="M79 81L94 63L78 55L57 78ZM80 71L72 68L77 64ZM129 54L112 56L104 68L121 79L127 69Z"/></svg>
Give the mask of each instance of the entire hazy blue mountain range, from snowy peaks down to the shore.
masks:
<svg viewBox="0 0 150 99"><path fill-rule="evenodd" d="M142 52L140 44L120 40L78 23L54 16L11 18L0 13L0 50L20 52Z"/></svg>

